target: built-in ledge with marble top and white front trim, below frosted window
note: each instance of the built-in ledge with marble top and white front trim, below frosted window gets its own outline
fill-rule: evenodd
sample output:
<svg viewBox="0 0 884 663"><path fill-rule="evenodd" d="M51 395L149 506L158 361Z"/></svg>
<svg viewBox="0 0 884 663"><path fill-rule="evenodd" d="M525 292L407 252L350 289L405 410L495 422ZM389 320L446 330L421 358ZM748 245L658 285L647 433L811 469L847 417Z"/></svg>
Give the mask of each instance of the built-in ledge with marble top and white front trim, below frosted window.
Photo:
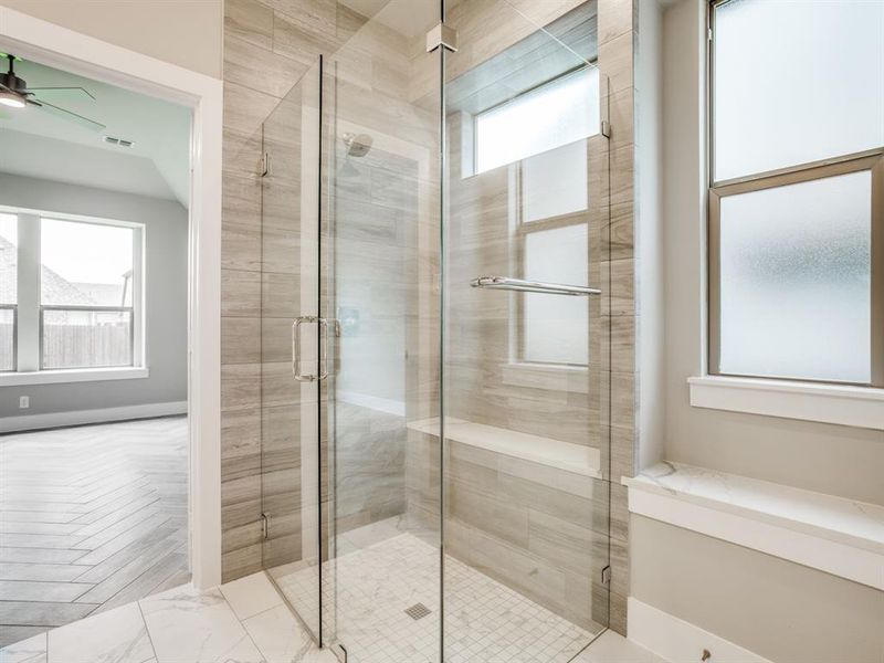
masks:
<svg viewBox="0 0 884 663"><path fill-rule="evenodd" d="M884 507L664 462L629 487L633 514L884 590Z"/></svg>

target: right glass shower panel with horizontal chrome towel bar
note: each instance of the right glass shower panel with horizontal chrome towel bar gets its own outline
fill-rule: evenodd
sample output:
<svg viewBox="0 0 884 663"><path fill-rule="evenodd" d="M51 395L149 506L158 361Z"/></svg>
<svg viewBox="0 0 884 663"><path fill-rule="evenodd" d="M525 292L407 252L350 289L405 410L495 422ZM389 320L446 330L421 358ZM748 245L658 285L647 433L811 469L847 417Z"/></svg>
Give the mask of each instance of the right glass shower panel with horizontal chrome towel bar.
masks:
<svg viewBox="0 0 884 663"><path fill-rule="evenodd" d="M446 4L445 660L565 663L608 625L597 3Z"/></svg>

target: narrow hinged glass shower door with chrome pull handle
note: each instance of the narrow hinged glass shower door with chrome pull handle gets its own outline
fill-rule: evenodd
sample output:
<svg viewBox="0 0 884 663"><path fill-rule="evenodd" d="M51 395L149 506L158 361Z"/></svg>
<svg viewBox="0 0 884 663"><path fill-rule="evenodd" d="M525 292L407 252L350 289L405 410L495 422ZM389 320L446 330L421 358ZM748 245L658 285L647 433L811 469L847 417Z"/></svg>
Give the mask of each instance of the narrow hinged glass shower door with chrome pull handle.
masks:
<svg viewBox="0 0 884 663"><path fill-rule="evenodd" d="M322 60L263 126L261 463L263 567L323 641L320 389Z"/></svg>

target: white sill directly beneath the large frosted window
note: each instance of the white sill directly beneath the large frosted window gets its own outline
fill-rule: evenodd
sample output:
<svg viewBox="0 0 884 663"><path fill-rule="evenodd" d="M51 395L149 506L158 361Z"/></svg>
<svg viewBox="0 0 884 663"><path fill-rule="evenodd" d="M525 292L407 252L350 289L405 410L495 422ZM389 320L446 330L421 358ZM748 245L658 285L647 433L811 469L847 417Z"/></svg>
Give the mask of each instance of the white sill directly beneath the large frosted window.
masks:
<svg viewBox="0 0 884 663"><path fill-rule="evenodd" d="M691 404L884 430L884 389L760 378L687 378Z"/></svg>

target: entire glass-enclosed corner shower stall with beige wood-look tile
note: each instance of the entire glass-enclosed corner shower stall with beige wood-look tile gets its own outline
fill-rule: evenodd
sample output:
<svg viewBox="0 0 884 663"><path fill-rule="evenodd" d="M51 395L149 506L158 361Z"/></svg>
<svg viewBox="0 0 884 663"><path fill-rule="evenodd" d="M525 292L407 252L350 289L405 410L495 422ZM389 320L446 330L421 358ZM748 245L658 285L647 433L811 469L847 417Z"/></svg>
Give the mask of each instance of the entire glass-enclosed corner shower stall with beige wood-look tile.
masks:
<svg viewBox="0 0 884 663"><path fill-rule="evenodd" d="M260 136L263 567L348 663L570 661L609 619L597 4L362 4Z"/></svg>

